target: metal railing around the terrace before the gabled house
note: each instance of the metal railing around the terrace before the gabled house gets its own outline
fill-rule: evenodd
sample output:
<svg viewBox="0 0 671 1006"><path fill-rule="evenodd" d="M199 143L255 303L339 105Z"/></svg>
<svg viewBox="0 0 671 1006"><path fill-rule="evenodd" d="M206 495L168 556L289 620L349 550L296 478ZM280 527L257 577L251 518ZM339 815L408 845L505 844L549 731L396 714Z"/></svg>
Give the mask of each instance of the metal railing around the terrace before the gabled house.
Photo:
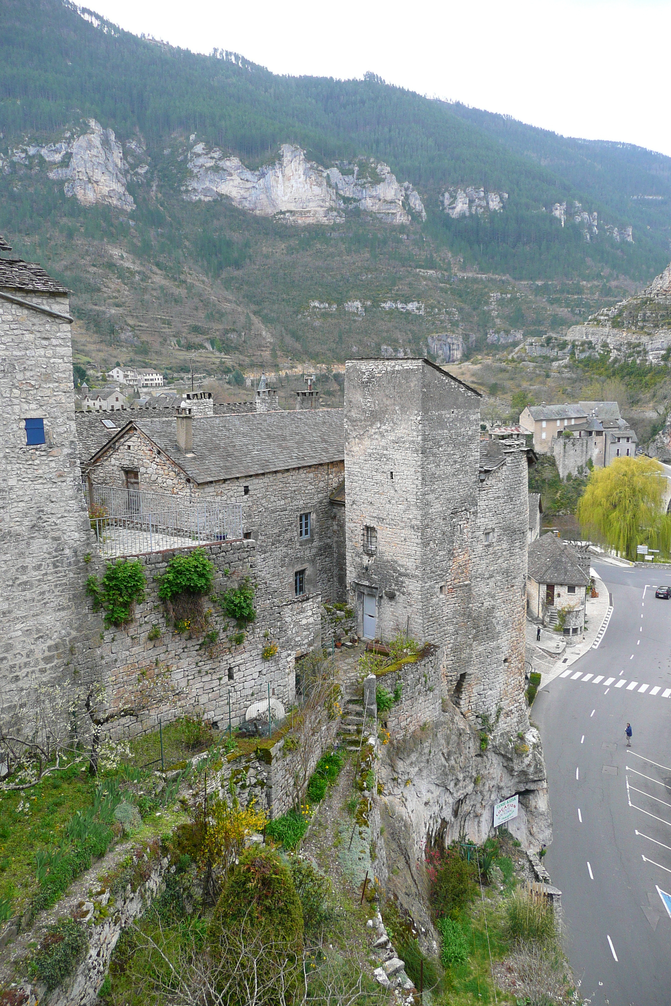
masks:
<svg viewBox="0 0 671 1006"><path fill-rule="evenodd" d="M106 558L242 537L241 503L112 486L86 487L83 495Z"/></svg>

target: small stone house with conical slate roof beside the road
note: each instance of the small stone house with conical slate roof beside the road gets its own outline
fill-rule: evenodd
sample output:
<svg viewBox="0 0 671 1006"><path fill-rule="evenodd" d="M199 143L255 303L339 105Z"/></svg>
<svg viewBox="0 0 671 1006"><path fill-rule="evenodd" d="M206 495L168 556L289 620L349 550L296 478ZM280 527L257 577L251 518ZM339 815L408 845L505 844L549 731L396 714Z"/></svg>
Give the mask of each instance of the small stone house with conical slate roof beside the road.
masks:
<svg viewBox="0 0 671 1006"><path fill-rule="evenodd" d="M564 636L584 631L590 564L578 549L554 534L529 545L526 600L529 615L543 625L561 625Z"/></svg>

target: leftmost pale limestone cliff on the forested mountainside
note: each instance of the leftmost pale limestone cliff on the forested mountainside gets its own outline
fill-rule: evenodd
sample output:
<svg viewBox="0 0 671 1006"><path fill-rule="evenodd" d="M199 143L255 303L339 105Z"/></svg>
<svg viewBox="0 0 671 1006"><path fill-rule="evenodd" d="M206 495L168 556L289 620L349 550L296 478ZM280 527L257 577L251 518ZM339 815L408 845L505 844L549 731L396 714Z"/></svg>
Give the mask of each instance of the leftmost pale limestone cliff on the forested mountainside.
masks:
<svg viewBox="0 0 671 1006"><path fill-rule="evenodd" d="M95 206L97 203L114 206L128 212L135 209L135 201L126 187L126 172L128 165L124 160L121 144L115 137L114 130L103 129L95 119L89 120L91 132L82 133L76 140L60 153L58 160L65 153L70 153L70 161L66 167L52 168L49 178L64 181L66 196L75 196L82 206ZM63 144L57 145L62 148ZM51 148L54 148L51 150ZM51 144L39 153L55 159L59 151Z"/></svg>

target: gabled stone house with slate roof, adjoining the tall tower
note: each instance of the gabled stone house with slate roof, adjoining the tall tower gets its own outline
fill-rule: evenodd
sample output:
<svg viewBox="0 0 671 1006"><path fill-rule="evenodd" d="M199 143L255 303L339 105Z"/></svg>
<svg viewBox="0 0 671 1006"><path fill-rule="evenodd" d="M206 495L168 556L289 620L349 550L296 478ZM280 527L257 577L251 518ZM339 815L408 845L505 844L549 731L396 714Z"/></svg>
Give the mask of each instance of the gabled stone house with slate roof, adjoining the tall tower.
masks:
<svg viewBox="0 0 671 1006"><path fill-rule="evenodd" d="M341 525L330 494L344 472L342 409L133 418L82 474L94 486L243 506L243 534L279 598L341 600L334 553Z"/></svg>

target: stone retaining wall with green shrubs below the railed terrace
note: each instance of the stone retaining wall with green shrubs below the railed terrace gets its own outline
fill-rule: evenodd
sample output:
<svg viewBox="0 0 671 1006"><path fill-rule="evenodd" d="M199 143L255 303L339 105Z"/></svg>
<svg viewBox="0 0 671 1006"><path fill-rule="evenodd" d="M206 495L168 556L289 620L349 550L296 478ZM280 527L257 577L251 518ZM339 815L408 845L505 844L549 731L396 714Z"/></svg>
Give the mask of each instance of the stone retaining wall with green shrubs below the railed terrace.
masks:
<svg viewBox="0 0 671 1006"><path fill-rule="evenodd" d="M227 725L230 709L235 726L254 702L268 699L269 685L271 698L286 708L295 699L297 653L320 645L319 596L279 604L258 574L254 541L205 546L215 566L213 597L246 576L257 584L257 619L246 626L242 644L231 641L235 623L226 618L216 600L206 602L208 623L202 632L177 633L158 597L156 577L173 555L189 551L140 555L147 578L146 600L137 606L127 628L113 627L103 634L96 660L107 689L108 714L114 716L112 736L155 730L159 717L165 723L194 708L221 727ZM149 639L152 629L160 633L158 639ZM208 641L205 633L212 632L218 634L217 639ZM264 660L262 651L271 643L278 645L278 653Z"/></svg>

